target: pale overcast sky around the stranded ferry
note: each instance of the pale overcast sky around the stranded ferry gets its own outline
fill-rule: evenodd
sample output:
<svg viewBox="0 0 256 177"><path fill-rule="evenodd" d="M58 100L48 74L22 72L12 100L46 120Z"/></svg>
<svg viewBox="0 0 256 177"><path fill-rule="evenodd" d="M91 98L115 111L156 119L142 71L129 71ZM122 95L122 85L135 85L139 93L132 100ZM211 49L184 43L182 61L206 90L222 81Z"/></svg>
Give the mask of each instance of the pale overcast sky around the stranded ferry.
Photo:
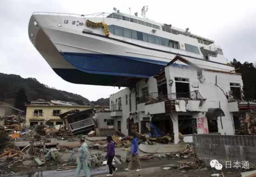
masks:
<svg viewBox="0 0 256 177"><path fill-rule="evenodd" d="M90 14L138 12L148 6L148 19L172 24L220 45L224 56L240 62L256 61L255 0L0 0L0 72L39 82L96 101L118 91L114 87L79 85L64 81L41 57L28 38L33 12Z"/></svg>

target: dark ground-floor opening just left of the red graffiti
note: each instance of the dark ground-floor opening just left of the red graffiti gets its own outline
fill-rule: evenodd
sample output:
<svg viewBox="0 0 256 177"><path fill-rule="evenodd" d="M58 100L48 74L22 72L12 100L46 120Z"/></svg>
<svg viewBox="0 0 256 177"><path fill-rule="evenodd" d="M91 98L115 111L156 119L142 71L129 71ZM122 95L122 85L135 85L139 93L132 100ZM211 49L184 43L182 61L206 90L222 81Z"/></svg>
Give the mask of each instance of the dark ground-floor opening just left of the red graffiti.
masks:
<svg viewBox="0 0 256 177"><path fill-rule="evenodd" d="M192 115L178 115L179 132L182 135L197 134L196 119Z"/></svg>

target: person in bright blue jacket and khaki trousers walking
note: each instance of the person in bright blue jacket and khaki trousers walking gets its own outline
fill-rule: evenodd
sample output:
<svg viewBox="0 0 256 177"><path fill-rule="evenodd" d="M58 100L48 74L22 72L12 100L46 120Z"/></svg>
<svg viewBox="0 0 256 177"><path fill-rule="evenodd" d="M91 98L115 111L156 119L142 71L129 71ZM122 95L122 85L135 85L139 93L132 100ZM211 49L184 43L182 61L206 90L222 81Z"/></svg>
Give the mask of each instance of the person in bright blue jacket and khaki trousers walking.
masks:
<svg viewBox="0 0 256 177"><path fill-rule="evenodd" d="M141 171L141 163L139 160L139 150L138 150L138 138L136 135L133 136L132 145L131 145L131 156L128 168L124 169L126 171L131 171L133 166L133 160L135 159L138 169L136 171Z"/></svg>

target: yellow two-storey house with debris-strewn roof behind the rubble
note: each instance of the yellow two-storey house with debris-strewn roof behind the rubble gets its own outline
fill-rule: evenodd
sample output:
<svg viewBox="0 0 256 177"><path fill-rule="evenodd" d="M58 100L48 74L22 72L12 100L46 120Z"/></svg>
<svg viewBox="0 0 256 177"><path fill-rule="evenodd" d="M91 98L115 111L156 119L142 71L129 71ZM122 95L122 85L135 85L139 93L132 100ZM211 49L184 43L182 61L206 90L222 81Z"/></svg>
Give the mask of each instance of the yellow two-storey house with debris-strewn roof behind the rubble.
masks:
<svg viewBox="0 0 256 177"><path fill-rule="evenodd" d="M59 100L52 101L30 101L26 104L26 126L32 126L33 124L44 124L47 120L52 124L60 125L62 120L59 118L59 114L78 109L80 111L94 108L95 112L100 110L109 109L108 106L84 106L78 105L75 102L66 102Z"/></svg>

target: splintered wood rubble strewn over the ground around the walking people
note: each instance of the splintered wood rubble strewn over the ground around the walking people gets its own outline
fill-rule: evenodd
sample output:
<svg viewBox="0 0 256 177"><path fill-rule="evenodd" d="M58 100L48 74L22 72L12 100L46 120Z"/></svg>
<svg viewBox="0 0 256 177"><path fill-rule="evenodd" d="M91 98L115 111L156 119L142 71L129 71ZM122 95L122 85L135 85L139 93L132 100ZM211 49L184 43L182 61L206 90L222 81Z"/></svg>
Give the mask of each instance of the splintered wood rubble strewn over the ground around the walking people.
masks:
<svg viewBox="0 0 256 177"><path fill-rule="evenodd" d="M70 113L71 115L79 112ZM85 113L79 113L84 116ZM52 124L25 126L23 119L16 116L10 116L5 126L0 130L0 170L1 174L7 175L19 172L20 170L29 170L31 168L47 168L50 170L69 170L76 168L78 149L82 137L94 137L95 127L83 130L81 133L74 133L67 122L69 114L63 115L64 125L53 126ZM81 118L83 119L83 118ZM87 116L86 119L90 119ZM138 143L144 145L172 145L172 138L169 134L159 135L154 138L146 137L141 133L135 133L138 137ZM127 151L127 157L121 158L116 154L113 163L121 164L129 161L130 146L133 137L125 136L116 130L112 135L115 141L115 147ZM106 165L105 154L107 152L107 138L91 141L89 146L88 165ZM194 155L193 146L188 145L182 152L166 153L166 155L154 156L152 154L140 156L140 160L151 158L182 158ZM62 164L61 166L58 166ZM6 168L8 167L8 168ZM12 174L14 174L12 173Z"/></svg>

